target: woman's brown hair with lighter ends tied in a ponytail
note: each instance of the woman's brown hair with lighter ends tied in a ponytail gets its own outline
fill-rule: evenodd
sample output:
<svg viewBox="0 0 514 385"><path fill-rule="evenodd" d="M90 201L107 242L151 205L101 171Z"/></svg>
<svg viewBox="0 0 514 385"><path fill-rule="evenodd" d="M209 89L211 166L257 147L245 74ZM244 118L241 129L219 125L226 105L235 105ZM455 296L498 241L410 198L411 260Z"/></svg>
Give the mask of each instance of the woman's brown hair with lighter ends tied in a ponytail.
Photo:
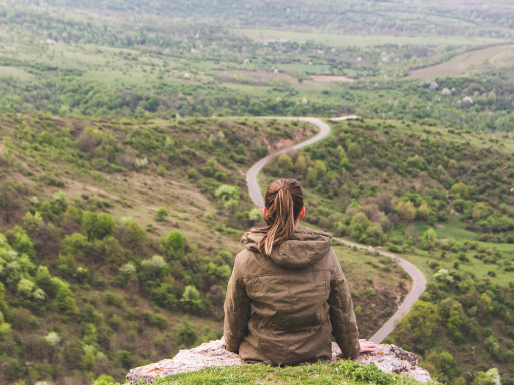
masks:
<svg viewBox="0 0 514 385"><path fill-rule="evenodd" d="M257 247L261 254L269 256L271 249L291 238L295 220L303 207L302 186L294 179L279 179L266 188L264 205L267 209L266 226L255 227L251 233L263 233Z"/></svg>

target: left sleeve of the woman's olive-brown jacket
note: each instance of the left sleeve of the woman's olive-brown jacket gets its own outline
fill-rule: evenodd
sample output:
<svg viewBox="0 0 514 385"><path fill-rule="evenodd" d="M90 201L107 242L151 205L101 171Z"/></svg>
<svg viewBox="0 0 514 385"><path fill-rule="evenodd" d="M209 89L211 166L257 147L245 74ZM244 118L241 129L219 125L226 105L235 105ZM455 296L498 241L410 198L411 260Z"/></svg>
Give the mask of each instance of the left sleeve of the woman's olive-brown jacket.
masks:
<svg viewBox="0 0 514 385"><path fill-rule="evenodd" d="M238 353L241 340L247 334L248 319L250 318L250 298L241 274L241 258L235 259L234 269L227 287L225 299L225 345L229 352Z"/></svg>

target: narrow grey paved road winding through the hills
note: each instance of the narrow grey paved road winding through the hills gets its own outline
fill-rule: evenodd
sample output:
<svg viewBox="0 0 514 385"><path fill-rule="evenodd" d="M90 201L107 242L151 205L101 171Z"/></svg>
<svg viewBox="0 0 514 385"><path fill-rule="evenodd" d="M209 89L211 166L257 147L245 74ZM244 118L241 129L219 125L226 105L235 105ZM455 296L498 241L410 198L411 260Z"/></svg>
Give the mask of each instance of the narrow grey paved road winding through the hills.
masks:
<svg viewBox="0 0 514 385"><path fill-rule="evenodd" d="M268 163L268 161L272 157L276 157L276 156L282 155L283 153L297 150L299 148L306 147L308 145L316 143L316 142L320 141L321 139L326 138L328 136L328 134L330 133L330 127L327 124L323 123L320 119L316 119L316 118L269 117L267 119L299 120L301 122L308 122L308 123L311 123L311 124L319 127L320 132L318 132L318 134L316 136L306 140L305 142L299 143L295 146L292 146L292 147L289 147L289 148L286 148L286 149L283 149L283 150L280 150L278 152L274 152L274 153L268 155L267 157L261 159L259 162L255 163L250 168L250 170L248 171L248 174L246 176L246 181L248 183L248 192L250 194L250 198L252 199L253 203L255 203L257 205L257 207L259 207L259 208L264 207L264 200L261 195L261 189L259 188L258 175L259 175L259 171L261 171L261 169L266 165L266 163ZM395 312L395 314L393 314L393 316L386 323L384 323L382 325L382 327L380 328L380 330L370 339L371 341L373 341L375 343L380 343L384 340L384 338L386 338L389 335L389 333L391 333L393 331L394 321L400 319L405 314L409 313L412 304L414 302L416 302L418 300L418 298L421 296L421 294L423 294L423 292L425 291L425 287L427 286L427 280L426 280L425 276L423 275L423 273L421 273L421 271L416 266L414 266L412 263L406 261L405 259L399 258L398 256L396 256L394 254L382 252L371 246L363 246L363 245L360 245L357 243L346 241L344 239L334 238L334 240L341 242L347 246L357 247L360 249L368 249L369 251L372 251L379 255L389 257L395 263L399 264L412 278L413 284L412 284L411 290L410 290L409 294L407 295L407 297L403 300L403 302L400 304L400 306L398 306L398 310Z"/></svg>

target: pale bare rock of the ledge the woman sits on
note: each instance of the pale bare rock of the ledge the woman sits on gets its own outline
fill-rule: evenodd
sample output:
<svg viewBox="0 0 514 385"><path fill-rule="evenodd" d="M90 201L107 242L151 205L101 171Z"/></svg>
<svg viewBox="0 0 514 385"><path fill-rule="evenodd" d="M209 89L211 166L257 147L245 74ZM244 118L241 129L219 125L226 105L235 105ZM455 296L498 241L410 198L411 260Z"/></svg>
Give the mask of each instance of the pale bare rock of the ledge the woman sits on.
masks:
<svg viewBox="0 0 514 385"><path fill-rule="evenodd" d="M332 363L339 361L341 350L336 343L332 343ZM418 367L419 357L408 353L395 345L377 345L374 353L363 353L356 362L361 365L375 363L378 369L392 374L402 374L419 382L427 382L430 375ZM195 372L204 368L238 366L244 363L234 353L225 350L223 339L203 343L191 350L181 350L173 359L166 359L145 367L132 369L127 374L127 383L142 385L153 383L157 378L173 374ZM138 381L141 383L139 384Z"/></svg>

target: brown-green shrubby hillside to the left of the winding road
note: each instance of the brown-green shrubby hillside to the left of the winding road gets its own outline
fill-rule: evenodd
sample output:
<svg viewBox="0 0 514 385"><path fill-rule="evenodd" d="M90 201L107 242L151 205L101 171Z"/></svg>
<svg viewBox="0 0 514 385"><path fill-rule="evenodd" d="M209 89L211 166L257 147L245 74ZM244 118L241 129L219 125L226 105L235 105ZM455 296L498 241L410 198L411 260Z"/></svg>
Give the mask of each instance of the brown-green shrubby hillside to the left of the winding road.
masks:
<svg viewBox="0 0 514 385"><path fill-rule="evenodd" d="M261 218L245 172L313 132L263 119L1 114L0 383L122 381L221 337L240 238ZM334 247L371 337L408 277Z"/></svg>

